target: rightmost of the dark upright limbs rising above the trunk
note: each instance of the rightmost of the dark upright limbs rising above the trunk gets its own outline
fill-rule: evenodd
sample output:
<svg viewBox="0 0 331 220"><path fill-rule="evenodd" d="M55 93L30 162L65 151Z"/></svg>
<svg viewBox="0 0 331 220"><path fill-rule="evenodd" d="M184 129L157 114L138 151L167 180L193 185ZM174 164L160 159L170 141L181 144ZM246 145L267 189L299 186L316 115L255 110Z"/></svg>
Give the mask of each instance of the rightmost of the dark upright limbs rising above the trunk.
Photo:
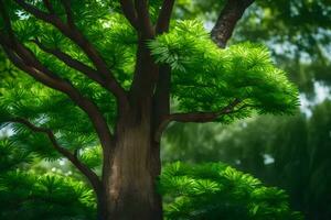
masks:
<svg viewBox="0 0 331 220"><path fill-rule="evenodd" d="M162 34L169 31L169 24L170 24L173 6L174 6L174 0L163 0L163 4L160 10L157 26L156 26L157 34Z"/></svg>

